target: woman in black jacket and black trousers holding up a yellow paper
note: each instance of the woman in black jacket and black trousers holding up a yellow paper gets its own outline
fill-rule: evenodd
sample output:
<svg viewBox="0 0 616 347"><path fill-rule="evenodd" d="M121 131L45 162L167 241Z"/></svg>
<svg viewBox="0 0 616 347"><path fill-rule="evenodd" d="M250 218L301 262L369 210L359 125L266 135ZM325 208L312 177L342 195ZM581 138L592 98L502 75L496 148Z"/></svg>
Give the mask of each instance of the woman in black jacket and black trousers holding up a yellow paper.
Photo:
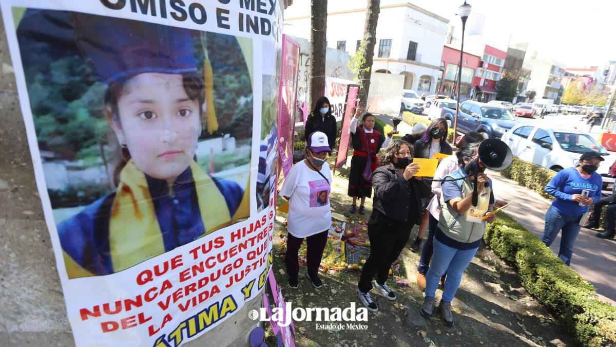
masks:
<svg viewBox="0 0 616 347"><path fill-rule="evenodd" d="M376 303L370 296L374 286L389 300L395 300L395 293L385 281L389 269L398 259L408 241L411 228L419 224L421 196L416 187L423 184L411 177L419 171L419 165L409 163L413 147L404 140L393 140L381 158L381 166L375 170L372 184L375 190L372 214L368 221L370 256L363 267L362 277L357 284L357 296L370 311L377 311Z"/></svg>

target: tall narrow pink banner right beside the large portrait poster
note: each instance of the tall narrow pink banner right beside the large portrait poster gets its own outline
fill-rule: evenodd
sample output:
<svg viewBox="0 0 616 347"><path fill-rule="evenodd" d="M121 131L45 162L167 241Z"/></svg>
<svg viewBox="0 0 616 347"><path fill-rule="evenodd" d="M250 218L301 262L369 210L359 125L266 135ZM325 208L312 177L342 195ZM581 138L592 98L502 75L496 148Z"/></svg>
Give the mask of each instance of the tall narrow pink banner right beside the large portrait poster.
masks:
<svg viewBox="0 0 616 347"><path fill-rule="evenodd" d="M295 133L295 103L298 97L299 43L283 35L280 93L278 94L278 172L284 175L293 165Z"/></svg>

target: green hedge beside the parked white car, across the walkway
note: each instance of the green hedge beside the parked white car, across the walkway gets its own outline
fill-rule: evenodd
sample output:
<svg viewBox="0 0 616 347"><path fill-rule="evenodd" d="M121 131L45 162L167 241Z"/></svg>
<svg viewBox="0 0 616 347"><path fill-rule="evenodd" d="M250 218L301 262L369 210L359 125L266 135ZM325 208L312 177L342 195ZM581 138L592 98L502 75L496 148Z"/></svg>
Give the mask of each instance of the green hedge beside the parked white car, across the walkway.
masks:
<svg viewBox="0 0 616 347"><path fill-rule="evenodd" d="M548 170L545 167L533 164L532 162L523 161L514 157L511 165L507 169L502 170L500 173L504 177L516 181L521 186L525 186L537 192L544 198L551 200L554 199L554 196L551 196L543 190L543 188L548 185L549 180L556 175L556 172L552 170ZM593 209L593 206L590 208ZM605 207L601 212L601 219L599 220L601 228L606 227L606 215L607 207Z"/></svg>

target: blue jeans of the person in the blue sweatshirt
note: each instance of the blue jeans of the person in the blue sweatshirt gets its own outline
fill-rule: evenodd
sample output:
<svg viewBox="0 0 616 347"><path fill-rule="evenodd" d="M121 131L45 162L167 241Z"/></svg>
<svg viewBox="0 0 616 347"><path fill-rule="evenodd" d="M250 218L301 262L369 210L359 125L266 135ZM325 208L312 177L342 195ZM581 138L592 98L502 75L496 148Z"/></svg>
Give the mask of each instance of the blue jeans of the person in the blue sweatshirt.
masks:
<svg viewBox="0 0 616 347"><path fill-rule="evenodd" d="M558 257L569 266L573 256L573 246L578 233L580 233L580 219L582 215L567 215L559 212L554 206L550 206L545 214L545 228L541 241L546 246L552 245L558 232L562 230L561 247L558 250Z"/></svg>

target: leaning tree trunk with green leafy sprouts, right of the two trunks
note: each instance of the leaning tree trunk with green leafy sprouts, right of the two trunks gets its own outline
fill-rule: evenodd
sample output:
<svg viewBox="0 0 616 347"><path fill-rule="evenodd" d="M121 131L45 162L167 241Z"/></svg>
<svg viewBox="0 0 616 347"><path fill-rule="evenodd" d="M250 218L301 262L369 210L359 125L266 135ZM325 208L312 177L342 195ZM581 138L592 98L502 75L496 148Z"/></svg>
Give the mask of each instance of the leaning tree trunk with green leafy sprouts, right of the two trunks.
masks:
<svg viewBox="0 0 616 347"><path fill-rule="evenodd" d="M359 69L358 82L360 85L359 97L360 104L366 106L368 101L368 91L370 90L370 73L372 73L372 59L375 56L376 44L376 23L381 12L381 0L368 0L366 8L366 21L363 25L363 41L366 49L362 52L363 64Z"/></svg>

